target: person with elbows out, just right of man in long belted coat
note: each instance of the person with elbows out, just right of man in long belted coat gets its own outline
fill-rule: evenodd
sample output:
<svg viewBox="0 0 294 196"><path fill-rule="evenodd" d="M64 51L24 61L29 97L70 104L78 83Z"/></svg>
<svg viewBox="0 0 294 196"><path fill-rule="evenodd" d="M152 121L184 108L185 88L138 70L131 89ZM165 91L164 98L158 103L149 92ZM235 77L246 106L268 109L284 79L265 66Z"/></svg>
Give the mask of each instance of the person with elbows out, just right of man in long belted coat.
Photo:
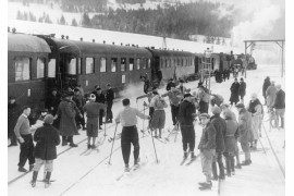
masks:
<svg viewBox="0 0 294 196"><path fill-rule="evenodd" d="M83 110L87 115L87 136L88 136L88 149L96 148L95 145L96 137L98 137L98 119L100 114L100 110L106 112L106 105L96 102L96 96L94 94L89 97L89 102L87 102ZM90 145L90 138L93 138L93 145Z"/></svg>

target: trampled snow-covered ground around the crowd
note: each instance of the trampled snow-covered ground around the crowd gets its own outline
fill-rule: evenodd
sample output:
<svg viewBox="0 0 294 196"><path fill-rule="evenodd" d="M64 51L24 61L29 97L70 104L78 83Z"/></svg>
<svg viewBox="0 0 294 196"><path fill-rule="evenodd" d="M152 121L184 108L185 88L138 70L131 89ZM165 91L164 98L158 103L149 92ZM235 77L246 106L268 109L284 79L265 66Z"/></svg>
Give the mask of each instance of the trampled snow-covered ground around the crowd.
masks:
<svg viewBox="0 0 294 196"><path fill-rule="evenodd" d="M264 102L262 98L262 83L266 76L277 83L281 83L284 89L284 79L280 77L279 65L259 65L256 71L248 71L247 78L247 94L245 103L249 101L252 93L258 93L258 98ZM212 78L212 93L223 95L225 101L230 98L230 86L233 82L223 82L221 84L215 83ZM196 90L198 82L185 84ZM143 89L143 88L142 88ZM163 93L164 89L160 89ZM135 108L143 109L143 100L136 105L135 97L132 97L131 105ZM113 106L113 113L122 109L121 102L118 101ZM236 110L233 108L233 111ZM147 111L146 111L147 113ZM163 137L172 127L170 107L166 109L167 123ZM268 114L265 117L265 121ZM138 128L146 128L147 121L143 125L143 121L138 120ZM284 130L271 130L269 132L269 124L265 122L268 137L274 148L277 157L281 162L281 168L270 148L270 144L266 137L266 132L262 130L261 144L265 147L266 154L260 150L252 154L253 164L243 167L242 170L236 170L236 174L232 177L226 177L221 183L221 195L244 195L244 196L282 196L284 195L285 180L282 173L285 168L285 151L283 147L285 135ZM287 123L286 123L287 125ZM150 136L140 138L140 158L145 164L134 173L123 176L120 181L117 179L123 173L123 159L121 155L120 140L115 140L113 147L113 155L111 158L111 166L107 164L111 149L111 143L107 140L109 136L113 135L115 130L114 124L107 125L107 137L103 137L103 132L99 134L99 139L103 144L99 146L99 152L93 151L88 156L82 155L86 149L86 136L84 131L79 131L81 135L75 136L75 143L78 143L77 148L70 148L69 146L58 146L58 159L54 161L54 170L52 179L56 182L45 189L42 183L38 183L35 188L32 188L29 181L32 173L10 183L22 173L17 172L19 147L8 148L8 193L10 196L14 195L218 195L218 182L213 182L211 191L200 192L198 189L198 182L205 180L201 174L200 160L197 159L193 164L180 166L183 157L181 134L170 137L168 144L160 143L155 139L157 156L159 163L156 162L152 140ZM201 127L196 123L196 148L199 143ZM118 133L121 132L121 126L118 126ZM142 136L142 135L140 135ZM258 143L258 148L261 148ZM69 149L69 150L68 150ZM66 151L64 151L66 150ZM62 152L64 151L64 152ZM195 150L196 155L198 150ZM241 155L241 160L244 160L244 155ZM131 154L130 163L133 163L133 155ZM28 167L28 166L26 166ZM42 169L41 169L42 171ZM39 173L38 179L42 179L42 172Z"/></svg>

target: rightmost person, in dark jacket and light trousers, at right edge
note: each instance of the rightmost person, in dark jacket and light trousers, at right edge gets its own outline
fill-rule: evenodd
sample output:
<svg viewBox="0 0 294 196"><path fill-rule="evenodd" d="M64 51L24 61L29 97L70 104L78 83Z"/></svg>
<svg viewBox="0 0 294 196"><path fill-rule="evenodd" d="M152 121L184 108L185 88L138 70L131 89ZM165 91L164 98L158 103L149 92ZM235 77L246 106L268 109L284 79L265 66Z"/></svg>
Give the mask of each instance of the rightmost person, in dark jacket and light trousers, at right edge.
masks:
<svg viewBox="0 0 294 196"><path fill-rule="evenodd" d="M281 118L281 127L284 128L284 114L285 114L285 93L282 90L281 85L278 84L277 88L277 97L274 100L273 108L275 109L277 115L277 125L279 125L279 117Z"/></svg>

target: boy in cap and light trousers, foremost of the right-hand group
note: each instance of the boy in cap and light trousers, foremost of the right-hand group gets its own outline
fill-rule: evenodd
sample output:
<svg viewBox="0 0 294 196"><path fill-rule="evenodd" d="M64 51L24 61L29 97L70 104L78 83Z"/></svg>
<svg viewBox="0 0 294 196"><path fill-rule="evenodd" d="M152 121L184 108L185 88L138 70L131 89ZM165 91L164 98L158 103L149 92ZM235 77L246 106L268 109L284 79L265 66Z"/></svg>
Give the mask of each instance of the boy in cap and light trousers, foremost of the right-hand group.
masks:
<svg viewBox="0 0 294 196"><path fill-rule="evenodd" d="M198 184L200 185L199 189L205 191L212 187L211 166L216 154L216 128L210 123L210 115L208 113L201 113L199 119L204 128L198 149L200 150L203 173L206 176L206 182Z"/></svg>

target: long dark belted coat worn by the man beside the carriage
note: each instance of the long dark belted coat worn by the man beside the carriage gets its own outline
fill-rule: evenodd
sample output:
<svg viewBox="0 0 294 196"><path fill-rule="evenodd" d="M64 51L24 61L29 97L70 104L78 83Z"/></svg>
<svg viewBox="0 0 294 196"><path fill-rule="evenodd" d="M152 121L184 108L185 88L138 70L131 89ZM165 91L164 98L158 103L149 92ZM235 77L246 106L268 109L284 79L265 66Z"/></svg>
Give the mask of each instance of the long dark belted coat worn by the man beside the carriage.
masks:
<svg viewBox="0 0 294 196"><path fill-rule="evenodd" d="M73 136L78 135L75 123L75 103L71 100L63 99L58 107L58 115L60 115L60 135Z"/></svg>

